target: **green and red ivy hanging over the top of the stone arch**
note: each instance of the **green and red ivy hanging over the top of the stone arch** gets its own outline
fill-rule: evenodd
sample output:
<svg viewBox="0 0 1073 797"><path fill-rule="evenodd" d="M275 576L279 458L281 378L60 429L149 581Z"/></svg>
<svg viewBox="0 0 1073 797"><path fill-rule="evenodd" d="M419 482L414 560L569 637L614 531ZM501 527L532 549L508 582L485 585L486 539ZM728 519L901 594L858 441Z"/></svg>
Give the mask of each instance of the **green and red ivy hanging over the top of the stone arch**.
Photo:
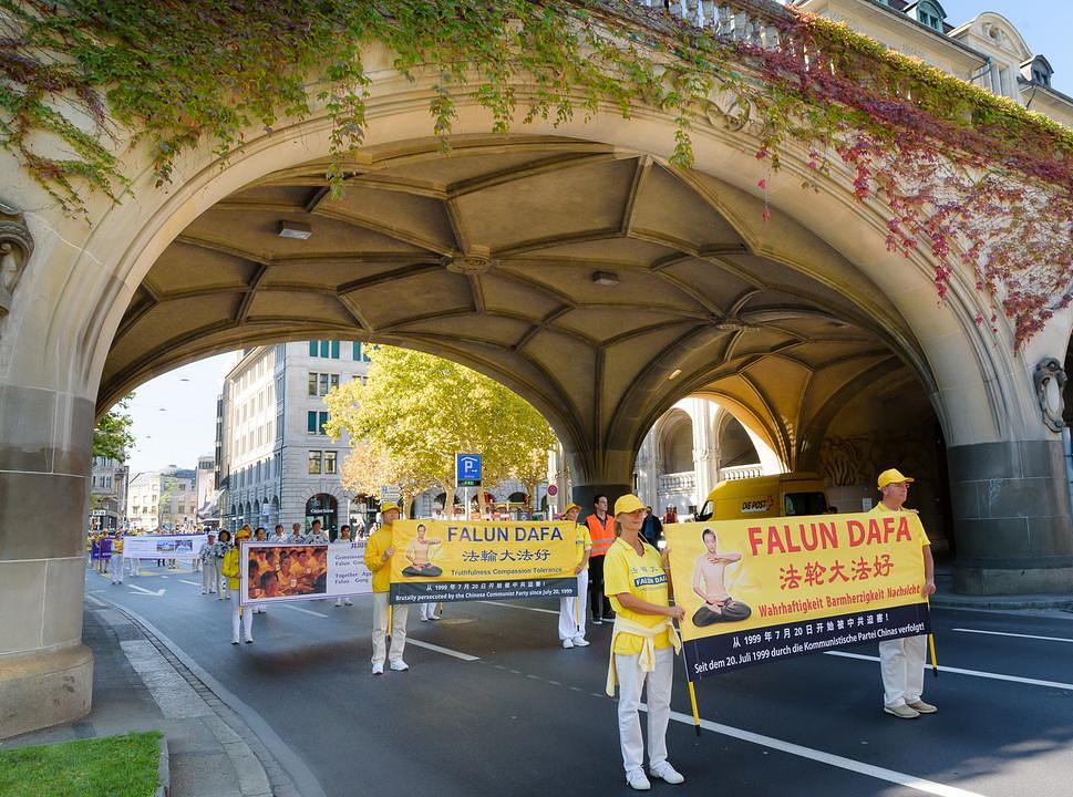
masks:
<svg viewBox="0 0 1073 797"><path fill-rule="evenodd" d="M1018 345L1042 329L1071 300L1073 133L843 25L767 13L778 48L629 0L0 0L0 146L84 211L85 190L122 194L131 144L152 147L165 185L195 145L226 158L244 131L322 106L338 190L367 124L362 53L379 42L403 74L432 70L444 151L463 93L493 132L662 108L681 167L694 125L721 115L759 135L773 172L790 148L806 155L806 189L849 169L888 247L935 256L940 299L960 260Z"/></svg>

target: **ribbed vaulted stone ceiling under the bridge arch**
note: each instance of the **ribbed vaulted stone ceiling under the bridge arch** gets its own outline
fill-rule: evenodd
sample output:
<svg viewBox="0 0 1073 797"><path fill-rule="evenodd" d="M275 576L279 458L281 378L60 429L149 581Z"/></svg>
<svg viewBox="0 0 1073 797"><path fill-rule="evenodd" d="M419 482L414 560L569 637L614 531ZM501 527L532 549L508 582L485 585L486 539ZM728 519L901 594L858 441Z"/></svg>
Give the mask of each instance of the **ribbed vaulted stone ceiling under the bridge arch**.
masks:
<svg viewBox="0 0 1073 797"><path fill-rule="evenodd" d="M518 136L443 156L422 139L363 152L339 198L324 170L267 175L167 248L115 338L102 406L214 352L392 343L514 387L603 478L705 385L752 396L792 449L839 390L916 356L894 309L833 249L644 155ZM311 236L280 237L280 222Z"/></svg>

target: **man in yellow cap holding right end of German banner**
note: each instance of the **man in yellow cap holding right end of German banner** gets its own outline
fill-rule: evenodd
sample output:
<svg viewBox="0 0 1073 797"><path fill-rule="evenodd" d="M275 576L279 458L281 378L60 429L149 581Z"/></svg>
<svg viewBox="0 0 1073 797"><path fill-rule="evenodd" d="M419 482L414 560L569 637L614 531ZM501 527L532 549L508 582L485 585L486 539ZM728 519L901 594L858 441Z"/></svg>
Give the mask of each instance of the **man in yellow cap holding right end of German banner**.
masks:
<svg viewBox="0 0 1073 797"><path fill-rule="evenodd" d="M871 515L908 513L906 498L912 479L902 476L895 468L884 470L877 480L883 499L871 508ZM924 532L924 527L920 528ZM931 558L931 541L927 532L920 538L920 552L924 557L924 584L920 593L927 598L935 594L935 559ZM925 703L924 660L928 652L928 638L924 634L884 640L879 643L879 669L883 675L883 710L899 720L916 720L921 714L939 711Z"/></svg>

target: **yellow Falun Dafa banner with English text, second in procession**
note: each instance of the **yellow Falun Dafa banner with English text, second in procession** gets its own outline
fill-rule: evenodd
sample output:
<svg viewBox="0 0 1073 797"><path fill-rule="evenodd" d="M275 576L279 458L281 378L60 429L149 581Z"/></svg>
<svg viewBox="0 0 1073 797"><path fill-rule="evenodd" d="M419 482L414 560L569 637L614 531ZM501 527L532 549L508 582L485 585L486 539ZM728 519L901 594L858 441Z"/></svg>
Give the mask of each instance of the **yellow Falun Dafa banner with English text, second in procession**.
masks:
<svg viewBox="0 0 1073 797"><path fill-rule="evenodd" d="M392 603L577 593L575 524L398 520L392 531Z"/></svg>

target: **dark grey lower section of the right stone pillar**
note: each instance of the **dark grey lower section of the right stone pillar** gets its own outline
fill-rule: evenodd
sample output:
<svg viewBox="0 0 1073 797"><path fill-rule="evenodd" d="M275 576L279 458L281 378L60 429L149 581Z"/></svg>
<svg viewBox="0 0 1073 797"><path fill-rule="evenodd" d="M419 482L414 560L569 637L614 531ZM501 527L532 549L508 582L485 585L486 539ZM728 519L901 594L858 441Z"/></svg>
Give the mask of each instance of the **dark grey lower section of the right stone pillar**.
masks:
<svg viewBox="0 0 1073 797"><path fill-rule="evenodd" d="M957 558L968 594L1073 591L1073 525L1060 439L948 449Z"/></svg>

